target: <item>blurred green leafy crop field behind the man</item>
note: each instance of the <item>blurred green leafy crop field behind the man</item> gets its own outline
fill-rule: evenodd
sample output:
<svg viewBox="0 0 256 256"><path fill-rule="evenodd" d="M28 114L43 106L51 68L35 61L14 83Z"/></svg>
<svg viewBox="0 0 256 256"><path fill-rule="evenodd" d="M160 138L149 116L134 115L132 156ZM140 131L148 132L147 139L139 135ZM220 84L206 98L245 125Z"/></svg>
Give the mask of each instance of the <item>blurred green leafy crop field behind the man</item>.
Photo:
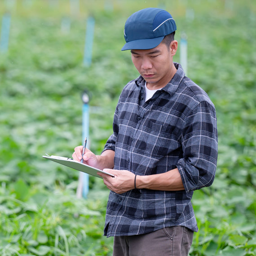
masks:
<svg viewBox="0 0 256 256"><path fill-rule="evenodd" d="M81 144L84 89L89 146L101 153L119 93L138 76L129 51L120 51L124 23L146 7L172 13L176 40L182 33L188 40L187 75L216 106L216 179L194 192L199 233L190 255L256 255L254 0L0 0L0 25L11 18L8 49L0 51L1 256L112 255L112 238L102 236L102 180L90 177L87 199L77 199L79 173L42 155L69 157ZM85 66L88 17L95 31Z"/></svg>

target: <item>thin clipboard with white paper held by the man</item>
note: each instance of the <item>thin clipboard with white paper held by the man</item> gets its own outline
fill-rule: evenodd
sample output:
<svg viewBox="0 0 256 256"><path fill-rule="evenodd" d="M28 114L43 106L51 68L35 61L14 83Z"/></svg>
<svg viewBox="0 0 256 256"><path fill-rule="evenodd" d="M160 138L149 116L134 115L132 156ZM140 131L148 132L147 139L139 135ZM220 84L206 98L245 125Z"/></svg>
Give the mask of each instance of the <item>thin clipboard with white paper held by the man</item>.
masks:
<svg viewBox="0 0 256 256"><path fill-rule="evenodd" d="M97 172L102 172L102 173L105 173L105 174L108 174L112 177L115 177L115 175L111 174L111 173L108 173L108 172L104 172L100 169L97 169L97 168L94 168L92 166L89 166L85 163L80 163L72 158L67 158L67 157L62 157L62 156L57 156L57 155L43 155L44 158L46 159L49 159L49 160L52 160L53 162L56 162L56 163L60 163L60 164L63 164L67 167L70 167L72 169L75 169L75 170L78 170L80 172L85 172L85 173L88 173L90 175L93 175L95 177L98 177L98 178L101 178L99 175L97 175Z"/></svg>

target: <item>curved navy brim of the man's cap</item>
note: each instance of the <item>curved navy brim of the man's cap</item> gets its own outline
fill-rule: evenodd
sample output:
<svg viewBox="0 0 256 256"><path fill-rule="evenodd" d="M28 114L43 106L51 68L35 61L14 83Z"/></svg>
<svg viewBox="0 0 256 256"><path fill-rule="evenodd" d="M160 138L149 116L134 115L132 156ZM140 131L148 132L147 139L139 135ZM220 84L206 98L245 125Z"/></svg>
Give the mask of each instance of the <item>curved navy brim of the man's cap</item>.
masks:
<svg viewBox="0 0 256 256"><path fill-rule="evenodd" d="M121 51L153 49L153 48L157 47L162 42L163 38L164 38L164 36L160 36L157 38L130 41L130 42L127 42L126 44L124 44Z"/></svg>

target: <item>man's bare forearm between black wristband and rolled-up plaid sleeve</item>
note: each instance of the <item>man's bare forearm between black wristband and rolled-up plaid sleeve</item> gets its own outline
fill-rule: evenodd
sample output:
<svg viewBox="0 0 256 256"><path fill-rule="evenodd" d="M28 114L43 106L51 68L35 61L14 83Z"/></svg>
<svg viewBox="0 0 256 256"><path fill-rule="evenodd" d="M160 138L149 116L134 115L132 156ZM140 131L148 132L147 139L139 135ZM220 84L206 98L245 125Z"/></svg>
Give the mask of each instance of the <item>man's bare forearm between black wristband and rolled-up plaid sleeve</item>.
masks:
<svg viewBox="0 0 256 256"><path fill-rule="evenodd" d="M136 177L137 189L178 191L184 190L178 168L169 172Z"/></svg>

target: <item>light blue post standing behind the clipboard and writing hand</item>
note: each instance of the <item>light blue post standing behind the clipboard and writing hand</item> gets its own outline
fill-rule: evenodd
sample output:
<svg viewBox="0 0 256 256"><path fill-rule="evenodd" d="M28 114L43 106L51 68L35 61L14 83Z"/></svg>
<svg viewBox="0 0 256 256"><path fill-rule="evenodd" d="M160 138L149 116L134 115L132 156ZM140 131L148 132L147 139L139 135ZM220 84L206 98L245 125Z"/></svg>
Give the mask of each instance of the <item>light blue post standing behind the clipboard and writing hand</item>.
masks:
<svg viewBox="0 0 256 256"><path fill-rule="evenodd" d="M82 118L82 144L84 143L84 138L87 137L89 141L89 96L87 91L84 91L82 94L83 101L83 118ZM87 142L87 148L89 143ZM87 197L89 191L89 175L87 173L81 172L81 183L82 183L82 196Z"/></svg>

